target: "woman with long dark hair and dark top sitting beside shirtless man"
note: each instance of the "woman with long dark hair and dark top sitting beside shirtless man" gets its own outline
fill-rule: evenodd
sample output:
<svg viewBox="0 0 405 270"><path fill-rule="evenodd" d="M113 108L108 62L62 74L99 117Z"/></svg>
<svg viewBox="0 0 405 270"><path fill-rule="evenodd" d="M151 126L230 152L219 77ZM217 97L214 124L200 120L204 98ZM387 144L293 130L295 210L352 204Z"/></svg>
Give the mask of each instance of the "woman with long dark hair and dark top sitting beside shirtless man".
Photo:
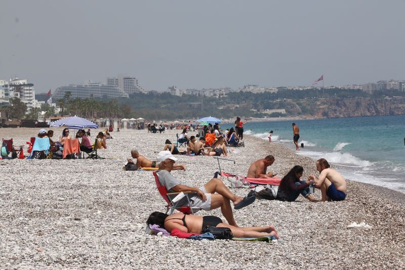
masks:
<svg viewBox="0 0 405 270"><path fill-rule="evenodd" d="M317 202L309 190L311 180L302 180L301 176L304 168L299 165L294 166L289 173L281 179L277 191L277 200L294 202L300 194L311 202Z"/></svg>

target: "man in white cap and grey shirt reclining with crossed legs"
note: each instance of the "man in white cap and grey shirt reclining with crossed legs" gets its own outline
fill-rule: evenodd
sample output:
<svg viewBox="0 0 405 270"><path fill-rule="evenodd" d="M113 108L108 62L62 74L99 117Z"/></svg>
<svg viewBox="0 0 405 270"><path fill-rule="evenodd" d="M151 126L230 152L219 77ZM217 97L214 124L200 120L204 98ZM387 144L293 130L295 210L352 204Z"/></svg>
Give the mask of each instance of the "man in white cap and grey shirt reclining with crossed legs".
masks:
<svg viewBox="0 0 405 270"><path fill-rule="evenodd" d="M160 151L157 154L157 162L159 170L156 171L161 185L164 185L169 192L192 191L190 198L191 206L197 207L206 211L221 207L222 215L232 226L237 226L233 218L230 201L233 202L234 209L240 209L250 205L256 199L255 196L239 197L234 194L224 185L218 178L212 178L203 187L192 187L186 182L181 182L175 178L170 172L173 170L174 164L177 161L170 151ZM186 201L184 202L186 203ZM180 206L184 206L181 204Z"/></svg>

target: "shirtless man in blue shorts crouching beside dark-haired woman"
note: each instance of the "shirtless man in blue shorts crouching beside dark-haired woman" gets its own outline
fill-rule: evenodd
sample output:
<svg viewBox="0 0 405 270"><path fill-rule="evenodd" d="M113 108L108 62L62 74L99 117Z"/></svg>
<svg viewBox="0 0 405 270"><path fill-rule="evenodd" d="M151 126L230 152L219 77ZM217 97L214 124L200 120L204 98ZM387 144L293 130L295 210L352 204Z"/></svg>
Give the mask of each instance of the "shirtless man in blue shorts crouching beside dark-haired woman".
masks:
<svg viewBox="0 0 405 270"><path fill-rule="evenodd" d="M309 179L314 181L315 187L322 193L321 202L326 200L343 201L346 198L346 179L337 171L330 168L326 159L316 161L316 170L319 177L311 174Z"/></svg>

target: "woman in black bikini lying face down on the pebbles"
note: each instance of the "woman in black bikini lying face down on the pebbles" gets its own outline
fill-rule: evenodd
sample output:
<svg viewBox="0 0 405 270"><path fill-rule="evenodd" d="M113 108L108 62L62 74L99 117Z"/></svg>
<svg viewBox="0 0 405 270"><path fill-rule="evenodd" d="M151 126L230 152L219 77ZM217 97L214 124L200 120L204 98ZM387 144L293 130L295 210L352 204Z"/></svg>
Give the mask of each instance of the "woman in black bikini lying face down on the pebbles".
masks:
<svg viewBox="0 0 405 270"><path fill-rule="evenodd" d="M278 234L273 225L263 227L235 227L223 222L216 216L197 216L185 215L183 213L176 213L167 215L161 212L153 212L150 214L146 224L156 224L160 228L165 228L169 233L173 229L179 229L184 233L200 234L201 230L207 226L212 225L215 227L230 228L234 237L263 237L274 236L278 239Z"/></svg>

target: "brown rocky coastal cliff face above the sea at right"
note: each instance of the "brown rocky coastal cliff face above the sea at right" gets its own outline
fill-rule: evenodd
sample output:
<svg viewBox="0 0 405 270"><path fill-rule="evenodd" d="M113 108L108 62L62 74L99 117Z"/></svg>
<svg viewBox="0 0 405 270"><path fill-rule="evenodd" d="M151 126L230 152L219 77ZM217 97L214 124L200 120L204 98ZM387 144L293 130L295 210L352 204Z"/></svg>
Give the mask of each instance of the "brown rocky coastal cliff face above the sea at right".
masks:
<svg viewBox="0 0 405 270"><path fill-rule="evenodd" d="M405 98L333 98L288 101L286 112L290 115L307 115L313 118L345 118L405 114Z"/></svg>

